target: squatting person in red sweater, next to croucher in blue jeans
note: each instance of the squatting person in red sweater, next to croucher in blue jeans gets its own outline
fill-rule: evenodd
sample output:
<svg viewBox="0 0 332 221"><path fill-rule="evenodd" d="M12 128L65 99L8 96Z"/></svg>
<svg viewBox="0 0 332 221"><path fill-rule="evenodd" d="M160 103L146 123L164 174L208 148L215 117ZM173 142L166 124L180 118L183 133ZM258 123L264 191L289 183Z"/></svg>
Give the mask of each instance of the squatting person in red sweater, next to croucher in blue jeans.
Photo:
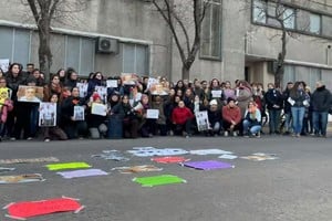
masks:
<svg viewBox="0 0 332 221"><path fill-rule="evenodd" d="M229 131L237 136L237 130L241 129L241 110L232 97L228 97L227 105L222 107L222 126L226 137Z"/></svg>

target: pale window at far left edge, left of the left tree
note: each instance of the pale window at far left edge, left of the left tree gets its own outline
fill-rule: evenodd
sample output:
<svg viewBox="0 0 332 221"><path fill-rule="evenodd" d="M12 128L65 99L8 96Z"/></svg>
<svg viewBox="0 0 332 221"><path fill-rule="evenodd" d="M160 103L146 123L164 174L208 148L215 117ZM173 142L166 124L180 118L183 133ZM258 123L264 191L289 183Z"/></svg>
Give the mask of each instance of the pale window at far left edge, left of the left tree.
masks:
<svg viewBox="0 0 332 221"><path fill-rule="evenodd" d="M24 66L30 61L30 38L29 30L0 27L0 59Z"/></svg>

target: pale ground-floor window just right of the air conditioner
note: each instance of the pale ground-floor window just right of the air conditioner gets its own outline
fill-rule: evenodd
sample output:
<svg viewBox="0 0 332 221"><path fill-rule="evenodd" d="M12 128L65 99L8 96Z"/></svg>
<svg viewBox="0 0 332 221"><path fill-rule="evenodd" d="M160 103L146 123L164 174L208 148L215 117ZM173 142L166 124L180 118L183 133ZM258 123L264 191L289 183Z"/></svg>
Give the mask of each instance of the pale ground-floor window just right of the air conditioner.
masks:
<svg viewBox="0 0 332 221"><path fill-rule="evenodd" d="M124 73L148 74L148 48L142 44L122 44Z"/></svg>

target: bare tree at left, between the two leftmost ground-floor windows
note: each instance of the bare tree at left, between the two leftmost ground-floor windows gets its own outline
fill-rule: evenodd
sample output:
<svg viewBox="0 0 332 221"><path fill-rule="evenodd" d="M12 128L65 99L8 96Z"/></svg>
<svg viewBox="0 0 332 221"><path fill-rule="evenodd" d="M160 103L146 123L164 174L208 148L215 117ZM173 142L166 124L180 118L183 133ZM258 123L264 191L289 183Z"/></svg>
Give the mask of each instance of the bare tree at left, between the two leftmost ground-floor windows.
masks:
<svg viewBox="0 0 332 221"><path fill-rule="evenodd" d="M29 6L35 21L39 34L39 64L40 70L49 77L52 65L51 24L54 20L61 22L66 13L85 9L89 0L21 0Z"/></svg>

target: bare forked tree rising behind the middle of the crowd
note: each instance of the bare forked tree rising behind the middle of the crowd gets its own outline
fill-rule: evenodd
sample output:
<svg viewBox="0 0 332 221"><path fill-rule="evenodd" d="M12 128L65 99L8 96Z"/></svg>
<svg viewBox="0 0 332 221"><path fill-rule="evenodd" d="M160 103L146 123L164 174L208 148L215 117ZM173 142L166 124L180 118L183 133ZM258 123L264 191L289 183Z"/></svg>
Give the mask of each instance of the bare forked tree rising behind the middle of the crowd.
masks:
<svg viewBox="0 0 332 221"><path fill-rule="evenodd" d="M200 46L201 24L209 0L180 0L177 3L174 0L152 0L152 2L167 23L178 49L183 63L181 77L189 78L190 67Z"/></svg>

